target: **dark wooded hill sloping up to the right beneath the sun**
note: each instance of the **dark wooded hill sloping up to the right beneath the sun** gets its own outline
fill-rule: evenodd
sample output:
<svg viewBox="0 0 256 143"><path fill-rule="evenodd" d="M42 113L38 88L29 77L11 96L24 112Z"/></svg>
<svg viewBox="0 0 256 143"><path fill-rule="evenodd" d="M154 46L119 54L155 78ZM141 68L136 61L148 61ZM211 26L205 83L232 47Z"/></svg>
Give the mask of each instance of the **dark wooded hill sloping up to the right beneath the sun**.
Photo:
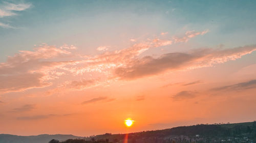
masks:
<svg viewBox="0 0 256 143"><path fill-rule="evenodd" d="M91 136L86 139L87 140L90 140L91 138L95 138L96 140L109 139L112 142L119 140L118 142L121 143L124 136L125 136L124 134L106 133L103 135ZM129 138L130 138L129 143L134 142L135 140L137 140L136 143L145 143L145 142L167 143L169 142L169 140L176 140L176 142L182 142L182 141L179 141L177 138L179 139L182 138L183 142L186 142L186 141L191 142L191 140L206 141L206 138L214 139L214 140L218 140L218 139L220 140L221 138L222 138L221 140L228 139L229 142L233 142L231 140L234 140L235 138L237 138L238 140L239 138L241 138L239 142L245 142L246 138L248 138L247 140L248 142L249 141L256 142L256 122L181 126L181 127L175 127L170 129L164 129L164 130L130 133ZM207 142L210 142L210 141L208 140Z"/></svg>

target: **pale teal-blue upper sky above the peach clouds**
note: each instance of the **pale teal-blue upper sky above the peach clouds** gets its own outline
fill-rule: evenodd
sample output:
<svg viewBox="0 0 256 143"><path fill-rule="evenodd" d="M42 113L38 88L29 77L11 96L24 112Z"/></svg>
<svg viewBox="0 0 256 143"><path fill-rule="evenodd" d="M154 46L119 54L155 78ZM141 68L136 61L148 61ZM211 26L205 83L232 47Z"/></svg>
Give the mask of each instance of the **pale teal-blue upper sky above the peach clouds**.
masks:
<svg viewBox="0 0 256 143"><path fill-rule="evenodd" d="M5 2L5 1L3 1ZM2 2L2 4L3 4ZM12 2L12 1L10 1ZM15 2L15 1L14 1ZM255 1L23 1L31 4L17 15L1 18L15 28L1 27L1 61L17 50L48 43L119 42L145 33L171 34L187 29L211 32L202 46L253 44ZM184 28L185 27L185 28ZM122 35L122 37L120 37ZM84 37L83 41L71 38ZM116 39L121 40L116 40ZM123 39L122 39L123 38ZM91 54L90 51L87 50Z"/></svg>

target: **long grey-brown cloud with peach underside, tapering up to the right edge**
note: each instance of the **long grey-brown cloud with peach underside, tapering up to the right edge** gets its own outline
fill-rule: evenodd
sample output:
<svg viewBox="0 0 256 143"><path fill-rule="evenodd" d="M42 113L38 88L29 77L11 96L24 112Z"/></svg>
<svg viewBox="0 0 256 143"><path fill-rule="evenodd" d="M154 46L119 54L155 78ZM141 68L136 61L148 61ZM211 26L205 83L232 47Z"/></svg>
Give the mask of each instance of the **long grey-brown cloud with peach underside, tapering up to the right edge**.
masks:
<svg viewBox="0 0 256 143"><path fill-rule="evenodd" d="M115 69L121 79L136 79L152 76L167 70L189 70L211 67L215 64L236 60L256 50L256 45L231 49L196 49L188 53L174 52L161 55L159 58L145 56L129 65Z"/></svg>

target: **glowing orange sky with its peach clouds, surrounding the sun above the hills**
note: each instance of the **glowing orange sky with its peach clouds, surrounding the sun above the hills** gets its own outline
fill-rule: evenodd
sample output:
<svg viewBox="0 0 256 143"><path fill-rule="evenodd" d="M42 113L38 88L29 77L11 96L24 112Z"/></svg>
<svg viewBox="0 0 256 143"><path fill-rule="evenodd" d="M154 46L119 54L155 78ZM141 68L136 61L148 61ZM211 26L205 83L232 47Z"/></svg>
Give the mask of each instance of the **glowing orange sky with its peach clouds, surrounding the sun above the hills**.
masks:
<svg viewBox="0 0 256 143"><path fill-rule="evenodd" d="M162 43L94 56L42 45L10 56L1 65L2 132L83 136L124 133L126 118L136 121L131 132L255 118L256 64L232 69L254 46L140 58Z"/></svg>

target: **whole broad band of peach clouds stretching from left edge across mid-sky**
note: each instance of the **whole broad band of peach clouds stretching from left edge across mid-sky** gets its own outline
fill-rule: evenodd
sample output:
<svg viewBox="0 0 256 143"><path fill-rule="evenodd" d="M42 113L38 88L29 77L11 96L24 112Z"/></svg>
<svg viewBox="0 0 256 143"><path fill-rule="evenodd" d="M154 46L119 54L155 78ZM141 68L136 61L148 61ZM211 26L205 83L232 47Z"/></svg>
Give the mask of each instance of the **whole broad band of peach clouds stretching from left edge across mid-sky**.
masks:
<svg viewBox="0 0 256 143"><path fill-rule="evenodd" d="M187 32L186 37L189 39L205 33L206 31ZM103 85L104 82L109 83L115 81L116 77L133 79L155 75L169 69L198 68L195 66L211 65L219 61L217 56L218 51L210 49L198 50L191 53L168 53L157 59L151 56L145 56L142 59L139 58L141 53L148 49L172 44L173 40L154 38L152 40L148 39L145 42L136 43L129 48L110 52L105 51L95 56L74 54L72 51L77 49L77 47L73 45L68 46L67 44L59 48L42 45L33 51L19 51L14 56L9 56L7 62L0 64L0 79L3 81L0 92L8 93L32 88L44 88L56 83L53 80L61 76L69 76L69 81L62 81L62 84L59 85L60 87L81 90L95 87L99 84ZM100 48L100 50L105 49L105 47ZM212 54L211 52L215 53L213 56L214 61L210 61L210 57L207 58L207 56ZM207 56L204 54L207 54ZM221 55L221 53L218 53L218 55ZM231 56L223 56L220 61L225 62L224 58L228 61L233 58ZM73 61L72 59L74 58L78 60ZM208 62L204 63L204 60L200 60L202 58L206 58ZM86 74L87 78L80 80L72 79L77 74ZM91 77L88 78L88 75Z"/></svg>

